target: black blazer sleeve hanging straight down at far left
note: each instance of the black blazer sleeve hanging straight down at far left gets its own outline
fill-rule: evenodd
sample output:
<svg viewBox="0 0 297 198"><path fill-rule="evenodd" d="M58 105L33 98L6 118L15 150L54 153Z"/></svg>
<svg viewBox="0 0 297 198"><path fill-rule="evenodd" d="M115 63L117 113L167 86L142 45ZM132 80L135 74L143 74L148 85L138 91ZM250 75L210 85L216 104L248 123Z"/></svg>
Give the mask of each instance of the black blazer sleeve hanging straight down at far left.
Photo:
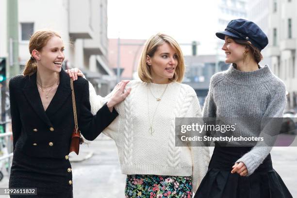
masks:
<svg viewBox="0 0 297 198"><path fill-rule="evenodd" d="M18 106L16 103L15 90L16 88L13 86L13 81L9 81L9 99L10 99L10 114L11 114L11 125L13 132L13 150L16 147L16 141L21 133L21 120L19 115Z"/></svg>

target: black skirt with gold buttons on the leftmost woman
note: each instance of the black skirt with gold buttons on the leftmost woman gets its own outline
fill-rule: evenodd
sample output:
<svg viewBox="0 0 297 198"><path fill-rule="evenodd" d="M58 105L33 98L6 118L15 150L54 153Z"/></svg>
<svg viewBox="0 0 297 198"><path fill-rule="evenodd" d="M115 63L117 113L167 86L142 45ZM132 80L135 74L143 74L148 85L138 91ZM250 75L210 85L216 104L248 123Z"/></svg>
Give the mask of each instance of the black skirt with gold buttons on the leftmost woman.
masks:
<svg viewBox="0 0 297 198"><path fill-rule="evenodd" d="M37 158L15 151L9 188L37 188L37 196L11 198L73 198L72 171L68 159ZM71 180L71 184L69 181Z"/></svg>

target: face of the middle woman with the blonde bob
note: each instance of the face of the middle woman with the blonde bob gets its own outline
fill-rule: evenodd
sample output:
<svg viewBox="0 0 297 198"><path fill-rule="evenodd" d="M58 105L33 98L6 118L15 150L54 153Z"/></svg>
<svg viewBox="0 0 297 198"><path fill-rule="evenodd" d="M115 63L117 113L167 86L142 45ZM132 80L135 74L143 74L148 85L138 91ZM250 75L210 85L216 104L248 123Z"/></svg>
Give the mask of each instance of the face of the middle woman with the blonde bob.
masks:
<svg viewBox="0 0 297 198"><path fill-rule="evenodd" d="M150 66L152 81L167 83L173 78L178 65L176 50L167 42L160 45L152 57L147 55L147 64Z"/></svg>

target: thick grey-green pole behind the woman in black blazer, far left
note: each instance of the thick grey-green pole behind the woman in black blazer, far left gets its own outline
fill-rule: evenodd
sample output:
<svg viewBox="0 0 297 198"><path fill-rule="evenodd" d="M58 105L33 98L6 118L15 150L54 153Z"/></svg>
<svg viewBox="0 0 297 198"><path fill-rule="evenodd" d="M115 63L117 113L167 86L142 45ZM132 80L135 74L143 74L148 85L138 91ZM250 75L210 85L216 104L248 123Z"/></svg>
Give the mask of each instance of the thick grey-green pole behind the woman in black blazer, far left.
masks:
<svg viewBox="0 0 297 198"><path fill-rule="evenodd" d="M17 0L7 0L7 52L6 76L10 79L20 74L18 63Z"/></svg>

